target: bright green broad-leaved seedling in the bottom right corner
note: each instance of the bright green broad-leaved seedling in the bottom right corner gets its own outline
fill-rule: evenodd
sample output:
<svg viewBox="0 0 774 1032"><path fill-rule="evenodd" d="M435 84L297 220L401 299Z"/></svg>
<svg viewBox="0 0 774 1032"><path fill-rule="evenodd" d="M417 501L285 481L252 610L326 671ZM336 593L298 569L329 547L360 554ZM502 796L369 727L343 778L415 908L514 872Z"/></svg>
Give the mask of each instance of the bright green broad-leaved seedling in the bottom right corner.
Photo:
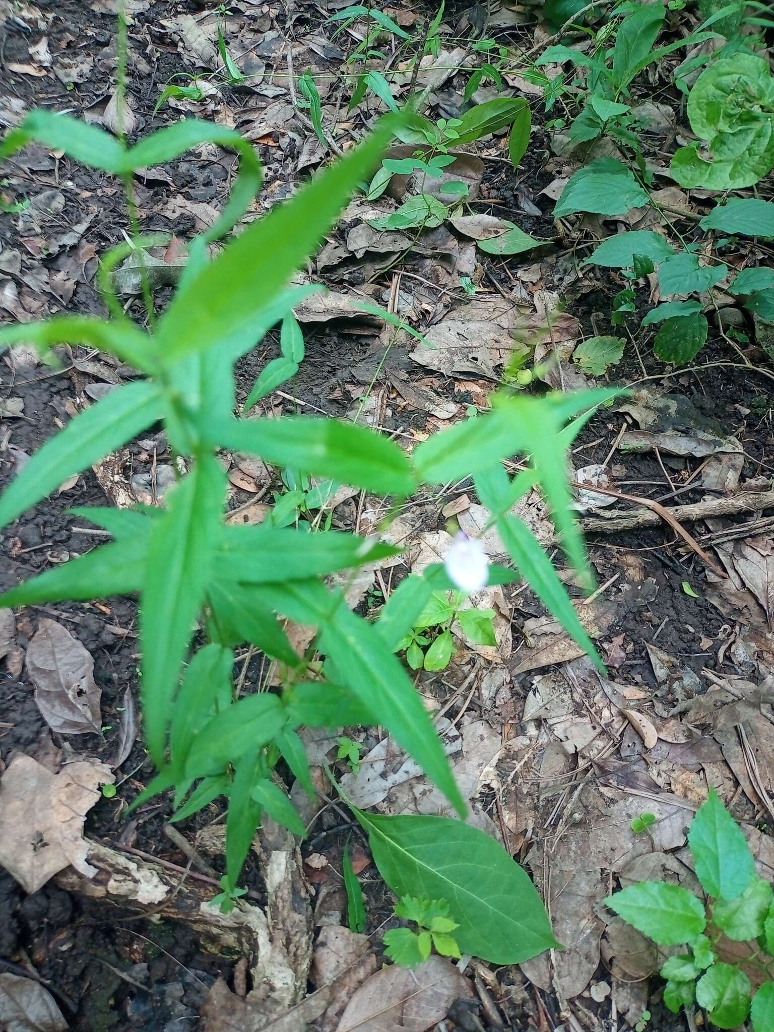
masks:
<svg viewBox="0 0 774 1032"><path fill-rule="evenodd" d="M660 969L670 1010L698 1003L718 1028L735 1029L749 1017L753 1032L772 1032L774 892L755 873L744 834L714 789L691 821L688 847L706 900L681 885L639 881L605 902L658 945L684 947ZM748 943L749 964L737 960L739 942ZM754 994L748 971L755 972Z"/></svg>

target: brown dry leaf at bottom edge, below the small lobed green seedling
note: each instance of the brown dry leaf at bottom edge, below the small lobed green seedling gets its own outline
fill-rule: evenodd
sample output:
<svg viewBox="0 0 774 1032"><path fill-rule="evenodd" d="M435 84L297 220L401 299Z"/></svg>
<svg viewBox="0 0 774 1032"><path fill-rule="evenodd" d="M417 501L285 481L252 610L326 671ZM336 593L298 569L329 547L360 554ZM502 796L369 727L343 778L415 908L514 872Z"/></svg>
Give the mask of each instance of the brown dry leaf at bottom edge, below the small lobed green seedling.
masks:
<svg viewBox="0 0 774 1032"><path fill-rule="evenodd" d="M446 1018L461 991L462 976L443 957L414 971L383 968L357 990L336 1032L424 1032Z"/></svg>

